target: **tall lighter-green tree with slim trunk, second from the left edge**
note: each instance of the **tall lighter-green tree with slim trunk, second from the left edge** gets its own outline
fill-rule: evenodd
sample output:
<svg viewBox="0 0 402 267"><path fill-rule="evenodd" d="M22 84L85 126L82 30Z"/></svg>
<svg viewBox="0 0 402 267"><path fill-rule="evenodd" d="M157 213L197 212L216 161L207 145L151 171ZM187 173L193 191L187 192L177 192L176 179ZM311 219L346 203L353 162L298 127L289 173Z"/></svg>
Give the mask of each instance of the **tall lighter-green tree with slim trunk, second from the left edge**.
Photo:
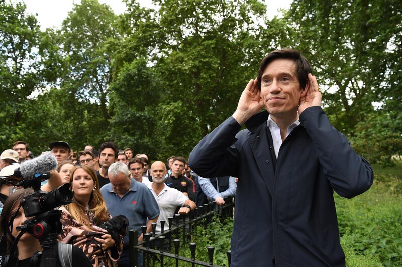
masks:
<svg viewBox="0 0 402 267"><path fill-rule="evenodd" d="M99 105L103 131L111 116L108 102L113 51L109 42L117 37L116 19L109 6L97 0L83 0L80 5L74 5L60 32L65 66L60 77L61 88L81 101Z"/></svg>

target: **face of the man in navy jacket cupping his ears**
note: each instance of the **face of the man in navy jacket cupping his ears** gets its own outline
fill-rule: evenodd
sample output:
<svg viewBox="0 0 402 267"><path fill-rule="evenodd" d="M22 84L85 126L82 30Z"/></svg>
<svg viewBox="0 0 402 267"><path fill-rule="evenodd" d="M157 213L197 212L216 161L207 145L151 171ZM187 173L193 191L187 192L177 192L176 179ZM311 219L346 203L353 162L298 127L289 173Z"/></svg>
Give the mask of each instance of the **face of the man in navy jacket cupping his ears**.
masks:
<svg viewBox="0 0 402 267"><path fill-rule="evenodd" d="M290 59L276 59L262 73L261 97L274 118L294 117L300 97L306 91L300 88L296 65Z"/></svg>

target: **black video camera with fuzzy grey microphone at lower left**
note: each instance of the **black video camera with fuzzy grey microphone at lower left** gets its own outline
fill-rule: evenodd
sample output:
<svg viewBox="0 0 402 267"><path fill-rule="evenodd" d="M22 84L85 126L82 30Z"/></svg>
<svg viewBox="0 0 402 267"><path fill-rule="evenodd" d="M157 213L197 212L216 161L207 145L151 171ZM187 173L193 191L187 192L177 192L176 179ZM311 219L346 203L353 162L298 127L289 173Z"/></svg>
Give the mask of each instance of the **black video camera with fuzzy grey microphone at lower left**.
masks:
<svg viewBox="0 0 402 267"><path fill-rule="evenodd" d="M25 164L25 165L24 165ZM39 166L40 165L40 166ZM11 255L14 254L14 250L17 247L17 243L21 236L28 232L35 238L39 239L43 252L35 253L32 258L36 258L36 262L40 262L41 267L55 266L55 248L57 244L57 235L62 230L61 210L55 210L55 208L69 204L73 202L73 194L70 191L70 184L63 184L56 190L51 192L44 192L40 190L41 182L50 178L48 171L54 170L57 167L57 161L50 153L41 155L35 159L24 162L18 169L14 171L13 175L9 177L22 178L18 182L12 182L3 178L3 181L24 188L32 187L34 192L29 196L22 199L20 206L22 207L26 217L33 217L24 221L24 224L18 226L16 229L20 231L19 235L15 239ZM16 214L17 214L16 212ZM10 220L10 226L13 224L13 220L16 216L14 214ZM6 234L6 233L5 233ZM0 250L5 251L6 236L3 235L1 241ZM3 255L0 255L3 258ZM0 267L4 264L0 261ZM6 263L7 266L7 263Z"/></svg>

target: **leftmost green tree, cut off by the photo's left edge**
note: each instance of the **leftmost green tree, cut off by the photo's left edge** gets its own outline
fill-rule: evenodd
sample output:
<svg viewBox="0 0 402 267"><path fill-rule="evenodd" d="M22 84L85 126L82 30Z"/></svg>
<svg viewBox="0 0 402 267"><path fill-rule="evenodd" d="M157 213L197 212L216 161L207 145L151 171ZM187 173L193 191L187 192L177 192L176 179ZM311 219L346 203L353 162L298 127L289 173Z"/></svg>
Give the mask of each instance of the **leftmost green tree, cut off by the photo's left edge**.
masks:
<svg viewBox="0 0 402 267"><path fill-rule="evenodd" d="M10 147L19 131L29 96L43 85L41 31L33 15L22 2L0 1L0 145Z"/></svg>

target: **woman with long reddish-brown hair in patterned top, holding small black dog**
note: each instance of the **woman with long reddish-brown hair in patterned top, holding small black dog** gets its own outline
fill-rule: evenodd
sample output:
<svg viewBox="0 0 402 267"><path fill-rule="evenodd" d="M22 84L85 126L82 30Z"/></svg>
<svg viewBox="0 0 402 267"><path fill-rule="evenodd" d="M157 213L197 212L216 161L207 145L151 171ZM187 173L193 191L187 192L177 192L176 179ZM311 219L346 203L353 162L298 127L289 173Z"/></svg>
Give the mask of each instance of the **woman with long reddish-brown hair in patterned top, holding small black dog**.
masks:
<svg viewBox="0 0 402 267"><path fill-rule="evenodd" d="M80 247L93 266L113 266L123 248L122 238L114 240L99 226L111 218L94 170L77 166L70 175L74 202L61 206L63 231L59 240Z"/></svg>

